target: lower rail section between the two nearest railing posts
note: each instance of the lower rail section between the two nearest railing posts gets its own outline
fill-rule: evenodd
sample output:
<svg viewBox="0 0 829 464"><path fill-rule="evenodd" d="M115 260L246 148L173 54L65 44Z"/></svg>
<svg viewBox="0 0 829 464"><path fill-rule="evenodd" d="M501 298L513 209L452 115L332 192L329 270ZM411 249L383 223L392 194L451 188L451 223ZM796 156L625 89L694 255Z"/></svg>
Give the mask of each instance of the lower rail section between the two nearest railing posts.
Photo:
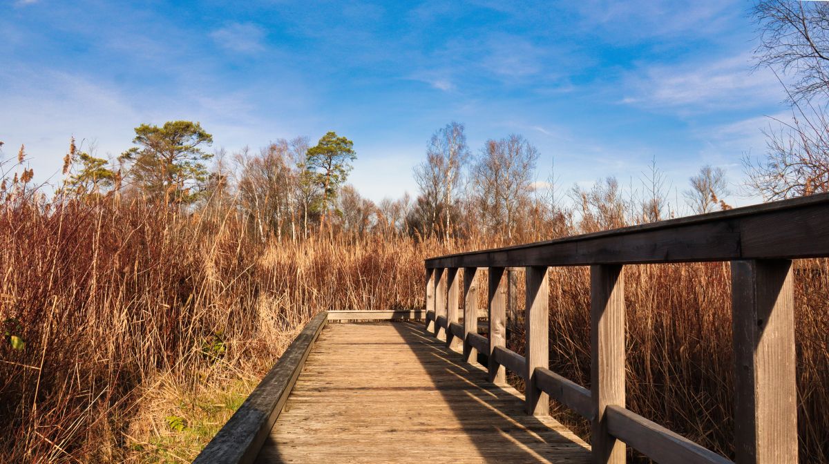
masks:
<svg viewBox="0 0 829 464"><path fill-rule="evenodd" d="M608 405L604 413L607 416L608 431L613 436L656 462L734 464L622 406Z"/></svg>

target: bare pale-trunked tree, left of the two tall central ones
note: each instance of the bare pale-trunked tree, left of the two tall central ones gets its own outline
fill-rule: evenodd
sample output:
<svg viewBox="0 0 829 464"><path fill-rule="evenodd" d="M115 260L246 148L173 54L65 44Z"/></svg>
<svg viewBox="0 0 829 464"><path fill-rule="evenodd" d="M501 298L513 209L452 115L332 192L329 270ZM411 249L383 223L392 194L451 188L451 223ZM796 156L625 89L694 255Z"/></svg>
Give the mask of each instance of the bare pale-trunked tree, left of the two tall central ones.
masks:
<svg viewBox="0 0 829 464"><path fill-rule="evenodd" d="M452 122L435 132L426 147L426 161L414 167L414 180L420 187L424 212L430 216L431 228L438 226L442 220L446 239L452 230L451 206L458 198L463 167L469 158L463 130L463 124ZM439 217L440 211L443 212L442 218Z"/></svg>

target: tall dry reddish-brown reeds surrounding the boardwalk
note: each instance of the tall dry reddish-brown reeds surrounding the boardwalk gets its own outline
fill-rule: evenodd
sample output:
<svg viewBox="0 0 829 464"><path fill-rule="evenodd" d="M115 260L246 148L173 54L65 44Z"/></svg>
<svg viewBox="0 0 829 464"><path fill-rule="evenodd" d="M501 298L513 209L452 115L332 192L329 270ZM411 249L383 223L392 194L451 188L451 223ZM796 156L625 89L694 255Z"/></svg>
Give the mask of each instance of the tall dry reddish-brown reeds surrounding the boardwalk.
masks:
<svg viewBox="0 0 829 464"><path fill-rule="evenodd" d="M263 242L232 210L7 200L0 462L187 461L314 313L423 307L424 258L492 245L397 234ZM797 263L802 462L829 456L827 267ZM728 265L625 273L628 406L730 456ZM551 369L588 385L586 268L550 272L550 308Z"/></svg>

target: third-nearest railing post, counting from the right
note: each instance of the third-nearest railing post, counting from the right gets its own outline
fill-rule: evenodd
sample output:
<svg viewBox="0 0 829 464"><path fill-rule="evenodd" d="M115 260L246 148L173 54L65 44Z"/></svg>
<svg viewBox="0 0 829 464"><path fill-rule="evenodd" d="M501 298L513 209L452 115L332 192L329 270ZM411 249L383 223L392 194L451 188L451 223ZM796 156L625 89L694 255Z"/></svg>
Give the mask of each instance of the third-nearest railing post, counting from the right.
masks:
<svg viewBox="0 0 829 464"><path fill-rule="evenodd" d="M550 367L549 326L550 307L547 301L550 286L547 268L526 268L526 413L533 416L550 415L550 397L536 386L536 367Z"/></svg>

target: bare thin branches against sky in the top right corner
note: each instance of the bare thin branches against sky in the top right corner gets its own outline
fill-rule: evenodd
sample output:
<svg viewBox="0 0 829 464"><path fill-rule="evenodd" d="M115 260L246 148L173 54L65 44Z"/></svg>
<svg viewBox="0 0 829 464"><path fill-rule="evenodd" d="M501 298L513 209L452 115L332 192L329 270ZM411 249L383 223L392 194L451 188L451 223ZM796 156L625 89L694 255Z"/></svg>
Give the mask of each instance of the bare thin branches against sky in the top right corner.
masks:
<svg viewBox="0 0 829 464"><path fill-rule="evenodd" d="M829 91L829 3L763 0L754 5L759 66L793 74L792 101Z"/></svg>

